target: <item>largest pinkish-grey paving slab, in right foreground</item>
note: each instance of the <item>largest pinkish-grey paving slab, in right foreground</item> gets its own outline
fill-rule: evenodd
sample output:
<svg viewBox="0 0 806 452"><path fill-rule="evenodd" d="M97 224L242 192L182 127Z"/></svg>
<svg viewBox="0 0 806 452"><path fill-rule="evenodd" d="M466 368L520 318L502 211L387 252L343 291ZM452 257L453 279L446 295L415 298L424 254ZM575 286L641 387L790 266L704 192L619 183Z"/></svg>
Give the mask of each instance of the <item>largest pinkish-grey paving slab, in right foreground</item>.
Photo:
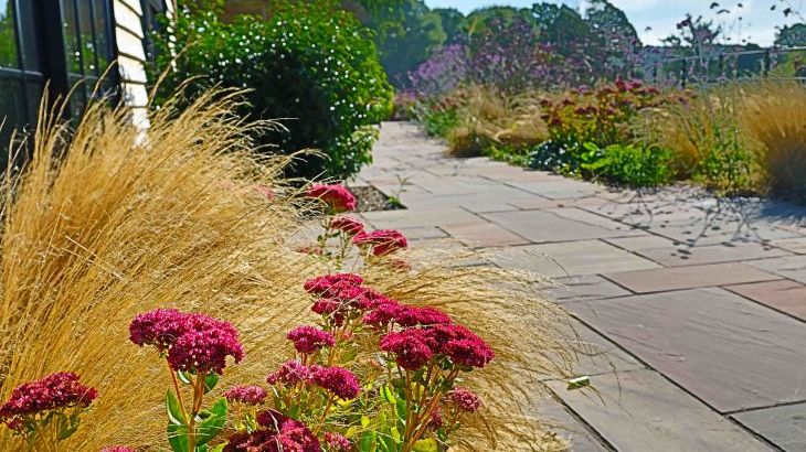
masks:
<svg viewBox="0 0 806 452"><path fill-rule="evenodd" d="M722 289L568 304L721 412L806 400L806 327Z"/></svg>

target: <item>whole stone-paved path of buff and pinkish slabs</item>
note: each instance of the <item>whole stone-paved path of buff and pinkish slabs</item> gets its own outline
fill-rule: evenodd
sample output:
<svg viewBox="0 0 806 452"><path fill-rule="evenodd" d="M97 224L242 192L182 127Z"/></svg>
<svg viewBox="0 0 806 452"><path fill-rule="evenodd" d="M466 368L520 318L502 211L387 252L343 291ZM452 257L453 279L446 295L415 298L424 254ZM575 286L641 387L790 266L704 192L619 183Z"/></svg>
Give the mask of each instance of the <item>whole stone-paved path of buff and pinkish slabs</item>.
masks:
<svg viewBox="0 0 806 452"><path fill-rule="evenodd" d="M550 384L574 450L806 451L806 209L452 159L411 123L384 123L374 158L359 182L405 177L409 207L364 214L374 227L563 284L554 299L611 362L580 368L604 403Z"/></svg>

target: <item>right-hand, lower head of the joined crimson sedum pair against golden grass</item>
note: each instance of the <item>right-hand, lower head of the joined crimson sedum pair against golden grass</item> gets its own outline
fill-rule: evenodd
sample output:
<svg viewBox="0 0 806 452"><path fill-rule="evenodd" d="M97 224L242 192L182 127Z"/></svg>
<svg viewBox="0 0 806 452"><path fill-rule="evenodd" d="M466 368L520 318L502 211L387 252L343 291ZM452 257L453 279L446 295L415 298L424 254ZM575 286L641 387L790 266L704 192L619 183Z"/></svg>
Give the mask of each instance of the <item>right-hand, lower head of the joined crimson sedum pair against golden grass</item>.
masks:
<svg viewBox="0 0 806 452"><path fill-rule="evenodd" d="M237 331L227 322L204 314L188 314L184 333L168 351L168 364L174 370L222 374L226 357L235 363L244 357Z"/></svg>

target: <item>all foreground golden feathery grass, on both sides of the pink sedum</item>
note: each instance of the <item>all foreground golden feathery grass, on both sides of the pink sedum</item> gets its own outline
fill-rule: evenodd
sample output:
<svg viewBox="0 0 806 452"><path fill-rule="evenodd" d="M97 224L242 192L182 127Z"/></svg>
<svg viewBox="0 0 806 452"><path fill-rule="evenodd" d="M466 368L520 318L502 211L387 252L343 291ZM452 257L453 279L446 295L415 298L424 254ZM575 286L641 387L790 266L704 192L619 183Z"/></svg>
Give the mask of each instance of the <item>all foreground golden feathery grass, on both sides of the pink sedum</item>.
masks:
<svg viewBox="0 0 806 452"><path fill-rule="evenodd" d="M288 158L251 152L251 132L269 125L235 116L240 98L210 92L182 110L183 99L169 101L147 132L100 103L72 130L43 115L28 162L7 172L0 395L59 372L96 389L61 450L168 446L163 389L172 383L151 347L129 341L137 314L205 313L238 331L243 359L230 358L215 397L265 381L293 352L287 332L314 319L303 284L333 269L296 251L311 205L280 179ZM538 408L539 380L570 374L568 316L537 295L531 276L458 266L463 256L449 252L413 249L393 271L356 271L401 302L446 311L495 349L467 381L485 412L463 428L459 449L563 448ZM18 446L3 427L0 450Z"/></svg>

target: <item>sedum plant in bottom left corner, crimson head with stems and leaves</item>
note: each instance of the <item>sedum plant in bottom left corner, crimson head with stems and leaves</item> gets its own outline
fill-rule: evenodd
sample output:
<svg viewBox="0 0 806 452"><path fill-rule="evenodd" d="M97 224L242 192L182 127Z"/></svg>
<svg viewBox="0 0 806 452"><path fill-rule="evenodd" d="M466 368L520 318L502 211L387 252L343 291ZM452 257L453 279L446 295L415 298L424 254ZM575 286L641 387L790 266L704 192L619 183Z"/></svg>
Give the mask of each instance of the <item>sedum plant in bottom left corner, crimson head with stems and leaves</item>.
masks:
<svg viewBox="0 0 806 452"><path fill-rule="evenodd" d="M76 374L60 372L14 388L0 407L0 421L28 448L55 444L75 433L81 413L97 397Z"/></svg>

